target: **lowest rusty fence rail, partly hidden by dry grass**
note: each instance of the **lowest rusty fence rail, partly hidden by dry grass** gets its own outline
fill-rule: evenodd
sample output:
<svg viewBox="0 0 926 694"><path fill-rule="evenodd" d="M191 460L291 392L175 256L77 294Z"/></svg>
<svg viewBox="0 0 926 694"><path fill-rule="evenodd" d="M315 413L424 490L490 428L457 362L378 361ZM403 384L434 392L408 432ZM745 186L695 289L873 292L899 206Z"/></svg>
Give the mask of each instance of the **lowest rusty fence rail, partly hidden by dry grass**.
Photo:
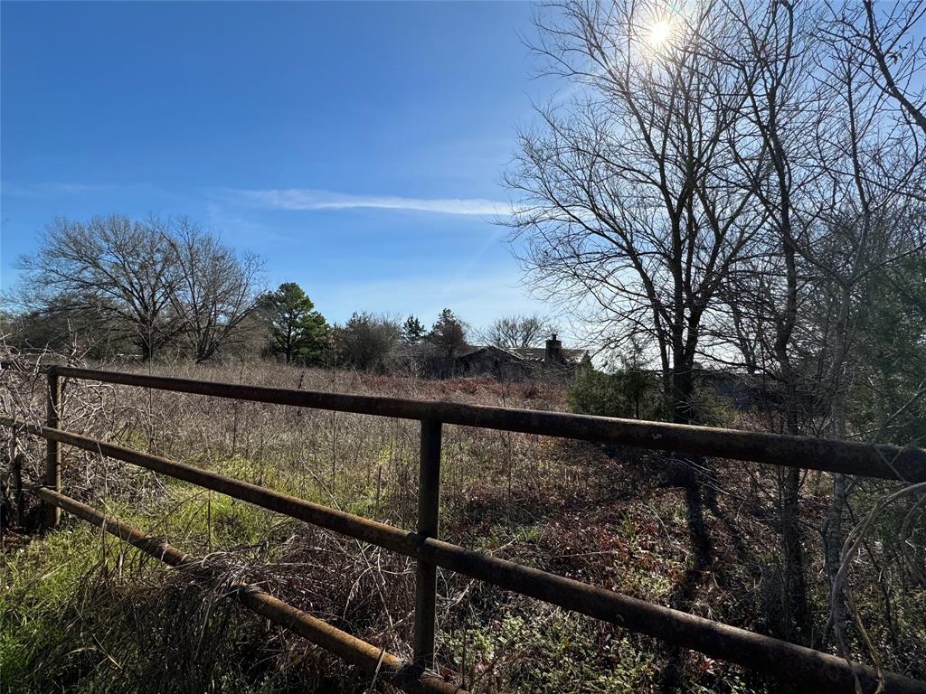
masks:
<svg viewBox="0 0 926 694"><path fill-rule="evenodd" d="M133 547L150 554L176 569L195 575L210 575L202 559L184 554L161 539L146 535L137 527L122 523L116 518L101 514L84 503L71 499L60 492L46 488L31 490L44 502L76 515ZM323 622L311 614L296 609L293 605L278 600L264 590L242 583L232 584L232 592L252 612L266 617L284 629L294 632L326 651L331 651L348 663L368 673L379 676L396 687L409 692L430 692L431 694L467 694L464 689L445 682L438 675L424 670L417 664L406 663L392 653L383 651L360 638L351 636L335 626Z"/></svg>

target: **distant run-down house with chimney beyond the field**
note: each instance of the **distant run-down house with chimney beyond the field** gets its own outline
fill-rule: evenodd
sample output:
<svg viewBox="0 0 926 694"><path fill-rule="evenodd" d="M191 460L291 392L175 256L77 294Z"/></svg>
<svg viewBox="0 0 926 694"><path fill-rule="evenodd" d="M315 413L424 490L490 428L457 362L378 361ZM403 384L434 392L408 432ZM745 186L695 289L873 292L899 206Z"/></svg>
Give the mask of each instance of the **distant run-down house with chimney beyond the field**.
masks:
<svg viewBox="0 0 926 694"><path fill-rule="evenodd" d="M545 347L473 346L457 356L459 376L494 376L498 380L523 380L544 376L566 376L590 357L585 350L563 349L556 334Z"/></svg>

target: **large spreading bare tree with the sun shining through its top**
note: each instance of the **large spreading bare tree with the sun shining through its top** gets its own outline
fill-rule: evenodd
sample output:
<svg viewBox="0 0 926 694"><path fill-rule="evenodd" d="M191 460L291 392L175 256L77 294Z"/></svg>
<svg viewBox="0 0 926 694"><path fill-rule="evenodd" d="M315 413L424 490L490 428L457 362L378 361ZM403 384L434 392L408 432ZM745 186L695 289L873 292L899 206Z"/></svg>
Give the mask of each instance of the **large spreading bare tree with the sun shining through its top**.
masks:
<svg viewBox="0 0 926 694"><path fill-rule="evenodd" d="M599 341L655 343L687 422L704 323L762 216L732 183L743 77L715 48L729 21L717 4L688 19L631 0L548 9L536 50L583 92L519 136L513 235L537 290L582 311Z"/></svg>

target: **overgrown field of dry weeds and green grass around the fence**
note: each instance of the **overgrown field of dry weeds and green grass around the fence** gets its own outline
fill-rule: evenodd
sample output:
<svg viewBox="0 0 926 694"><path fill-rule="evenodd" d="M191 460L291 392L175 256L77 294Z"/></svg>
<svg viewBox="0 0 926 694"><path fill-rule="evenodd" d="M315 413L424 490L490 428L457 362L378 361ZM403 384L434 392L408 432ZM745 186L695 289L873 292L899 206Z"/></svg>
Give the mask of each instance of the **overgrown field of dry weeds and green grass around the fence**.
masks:
<svg viewBox="0 0 926 694"><path fill-rule="evenodd" d="M127 370L126 367L120 367ZM556 384L427 381L275 364L148 366L145 373L304 390L564 410ZM0 372L4 415L44 420L44 377ZM398 527L417 514L419 424L366 415L65 384L62 428L199 465ZM5 450L12 449L4 431ZM20 436L26 482L44 441ZM6 470L8 461L4 466ZM717 462L696 517L665 456L569 440L444 427L441 536L464 547L737 626L768 631L778 580L774 470ZM807 517L821 516L809 480ZM206 556L197 585L87 524L63 517L42 538L6 528L0 681L7 691L290 692L380 689L337 658L234 601L254 583L400 657L411 655L414 563L169 477L63 448L65 493ZM28 526L38 513L23 510ZM808 537L808 546L816 538ZM876 553L871 559L877 562ZM877 606L877 581L859 595ZM696 653L449 572L438 581L438 670L475 692L778 690ZM818 610L822 579L813 587ZM920 597L921 594L920 594ZM916 664L922 600L870 638ZM891 602L890 604L894 604ZM873 614L881 614L872 608ZM919 645L918 645L919 644ZM913 663L913 664L911 664ZM901 665L898 667L897 665Z"/></svg>

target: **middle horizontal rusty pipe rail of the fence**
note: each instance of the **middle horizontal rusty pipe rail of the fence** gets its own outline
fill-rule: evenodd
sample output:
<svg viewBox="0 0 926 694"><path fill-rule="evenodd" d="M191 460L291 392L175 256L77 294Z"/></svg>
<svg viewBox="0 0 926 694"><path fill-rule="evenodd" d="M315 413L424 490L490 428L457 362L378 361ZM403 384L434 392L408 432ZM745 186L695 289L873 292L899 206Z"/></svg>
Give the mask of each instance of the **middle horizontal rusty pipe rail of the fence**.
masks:
<svg viewBox="0 0 926 694"><path fill-rule="evenodd" d="M612 590L594 588L571 578L465 550L448 542L346 514L150 453L9 418L0 418L0 425L15 426L26 433L192 482L199 487L219 491L269 511L289 515L347 537L482 580L498 588L512 590L767 675L775 675L801 686L854 692L858 681L865 691L874 691L877 687L878 674L868 667L847 663L842 658L778 638L723 625ZM885 690L888 692L926 692L926 683L894 673L883 673L883 676Z"/></svg>

